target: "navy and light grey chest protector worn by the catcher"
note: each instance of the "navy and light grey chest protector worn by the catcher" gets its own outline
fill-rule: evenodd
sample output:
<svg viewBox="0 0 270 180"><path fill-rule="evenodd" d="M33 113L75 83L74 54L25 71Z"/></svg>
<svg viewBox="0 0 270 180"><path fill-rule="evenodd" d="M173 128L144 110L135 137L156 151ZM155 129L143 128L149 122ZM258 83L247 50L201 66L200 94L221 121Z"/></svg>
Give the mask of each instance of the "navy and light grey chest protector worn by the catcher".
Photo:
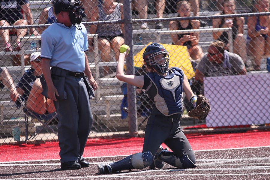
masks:
<svg viewBox="0 0 270 180"><path fill-rule="evenodd" d="M173 114L182 114L182 94L183 94L183 70L172 67L169 69L169 76L160 76L157 73L149 73L147 76L151 79L152 85L157 89L156 95L149 95L153 92L146 91L149 97L154 97L152 101L156 108L165 116Z"/></svg>

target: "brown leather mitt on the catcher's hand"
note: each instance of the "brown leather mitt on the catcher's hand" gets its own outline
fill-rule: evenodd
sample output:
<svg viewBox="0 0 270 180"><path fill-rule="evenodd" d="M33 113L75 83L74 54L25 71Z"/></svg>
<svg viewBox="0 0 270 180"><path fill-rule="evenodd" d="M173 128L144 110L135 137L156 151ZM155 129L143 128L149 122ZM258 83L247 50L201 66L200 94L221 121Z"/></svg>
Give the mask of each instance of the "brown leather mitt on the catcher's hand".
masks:
<svg viewBox="0 0 270 180"><path fill-rule="evenodd" d="M199 95L195 109L189 111L187 115L195 119L205 120L210 110L209 100L204 96Z"/></svg>

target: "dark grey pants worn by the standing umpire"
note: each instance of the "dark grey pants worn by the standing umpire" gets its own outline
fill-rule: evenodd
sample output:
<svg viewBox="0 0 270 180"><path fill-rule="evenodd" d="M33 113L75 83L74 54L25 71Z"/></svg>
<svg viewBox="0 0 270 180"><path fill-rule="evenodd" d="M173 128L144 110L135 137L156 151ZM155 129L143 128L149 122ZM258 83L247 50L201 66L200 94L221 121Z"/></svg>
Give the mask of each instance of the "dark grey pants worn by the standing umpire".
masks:
<svg viewBox="0 0 270 180"><path fill-rule="evenodd" d="M54 101L58 115L58 140L61 162L77 161L93 123L89 96L83 78L65 76L66 100Z"/></svg>

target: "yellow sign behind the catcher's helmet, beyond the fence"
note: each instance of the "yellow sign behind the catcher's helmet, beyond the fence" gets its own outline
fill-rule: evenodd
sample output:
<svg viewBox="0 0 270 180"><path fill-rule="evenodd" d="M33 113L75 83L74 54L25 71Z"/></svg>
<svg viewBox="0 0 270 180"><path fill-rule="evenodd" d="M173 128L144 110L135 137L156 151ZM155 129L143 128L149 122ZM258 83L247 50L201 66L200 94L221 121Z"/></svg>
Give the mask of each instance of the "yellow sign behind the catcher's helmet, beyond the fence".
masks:
<svg viewBox="0 0 270 180"><path fill-rule="evenodd" d="M148 46L149 44L147 44L146 46ZM184 71L185 75L187 76L187 79L191 79L192 77L195 76L193 67L190 62L191 58L189 52L187 51L187 46L178 46L171 44L162 44L162 45L169 52L170 55L169 67L181 68ZM146 46L134 56L135 67L142 67L142 65L144 64L143 52Z"/></svg>

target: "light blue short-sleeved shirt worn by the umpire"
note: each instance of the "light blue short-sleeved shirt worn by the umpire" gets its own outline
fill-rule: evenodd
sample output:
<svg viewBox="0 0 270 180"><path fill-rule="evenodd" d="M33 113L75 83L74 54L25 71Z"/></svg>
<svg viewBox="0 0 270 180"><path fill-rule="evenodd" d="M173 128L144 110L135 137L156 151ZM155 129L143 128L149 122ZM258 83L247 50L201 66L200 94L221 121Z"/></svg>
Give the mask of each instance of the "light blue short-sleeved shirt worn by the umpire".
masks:
<svg viewBox="0 0 270 180"><path fill-rule="evenodd" d="M85 51L88 50L88 36L85 26L81 30L75 25L70 28L55 22L41 34L41 57L51 59L51 67L60 67L73 72L85 70Z"/></svg>

